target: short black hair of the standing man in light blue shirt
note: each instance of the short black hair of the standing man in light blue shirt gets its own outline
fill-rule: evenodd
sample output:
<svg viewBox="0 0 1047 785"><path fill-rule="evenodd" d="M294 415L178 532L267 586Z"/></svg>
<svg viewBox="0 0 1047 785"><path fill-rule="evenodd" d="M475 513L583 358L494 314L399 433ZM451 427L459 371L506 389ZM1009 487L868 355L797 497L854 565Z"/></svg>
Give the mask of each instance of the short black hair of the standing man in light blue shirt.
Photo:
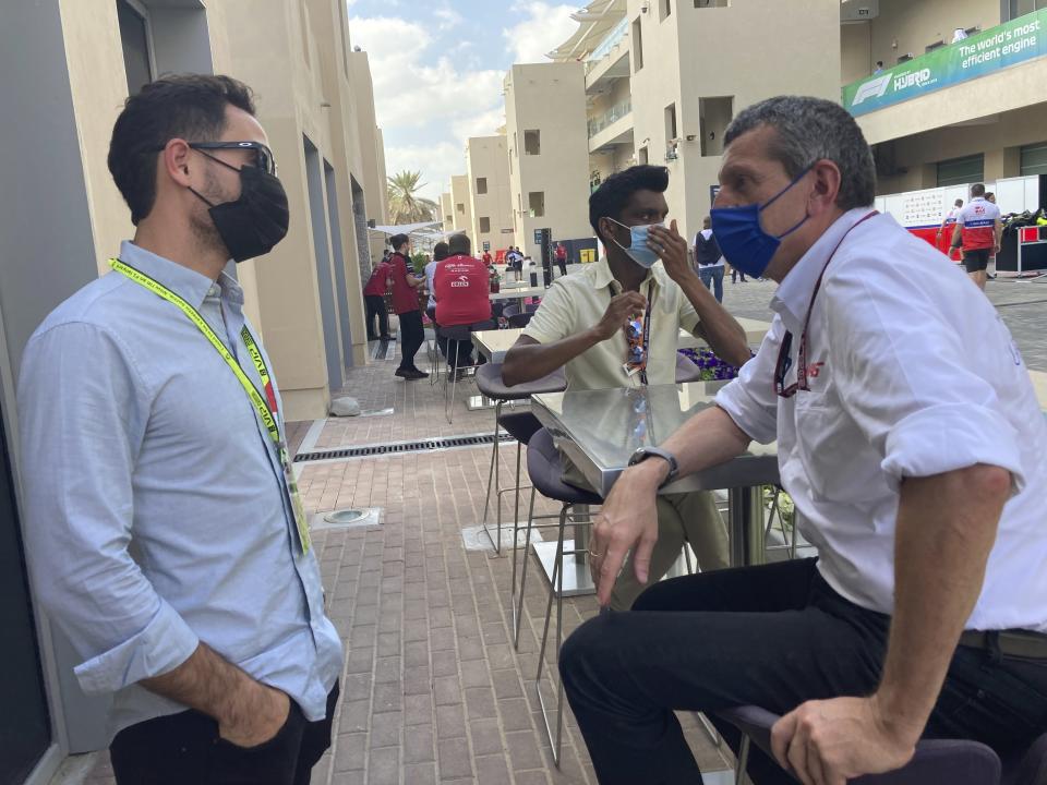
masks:
<svg viewBox="0 0 1047 785"><path fill-rule="evenodd" d="M226 107L254 114L251 88L231 76L172 74L129 97L112 126L109 172L139 225L156 202L157 150L172 138L208 142L226 129Z"/></svg>

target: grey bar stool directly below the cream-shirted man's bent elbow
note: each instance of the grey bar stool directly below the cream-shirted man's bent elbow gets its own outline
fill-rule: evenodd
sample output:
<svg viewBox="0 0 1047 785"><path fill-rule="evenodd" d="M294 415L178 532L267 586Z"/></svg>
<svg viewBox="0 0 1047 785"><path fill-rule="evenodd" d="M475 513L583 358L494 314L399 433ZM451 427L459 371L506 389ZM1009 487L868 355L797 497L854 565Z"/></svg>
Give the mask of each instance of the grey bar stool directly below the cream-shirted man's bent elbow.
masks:
<svg viewBox="0 0 1047 785"><path fill-rule="evenodd" d="M484 497L483 503L483 531L488 535L488 539L491 541L491 545L494 547L495 554L498 556L502 555L502 494L513 491L516 493L516 500L514 503L514 530L513 530L513 547L516 548L516 524L520 520L520 454L521 445L528 443L531 434L537 430L530 428L530 425L525 423L524 420L506 420L512 414L505 415L502 413L502 407L506 401L514 400L527 400L532 395L539 392L561 392L567 388L567 377L564 375L563 370L556 371L549 376L544 376L540 379L533 382L525 382L524 384L518 384L513 387L506 387L505 382L502 381L502 363L486 363L477 369L477 389L480 391L480 395L486 396L494 401L494 446L491 449L491 466L488 469L488 492ZM533 419L532 414L529 414ZM509 430L512 425L516 433ZM502 487L501 482L501 464L498 462L498 448L501 439L498 439L498 433L501 428L505 428L510 436L516 438L516 483L509 485L505 488ZM521 439L520 436L526 435L527 438ZM492 480L494 484L492 485ZM488 527L488 512L491 508L491 488L494 488L495 504L497 505L496 510L496 521L497 521L497 533L496 540L491 536L491 530ZM516 581L516 553L514 552L514 585Z"/></svg>

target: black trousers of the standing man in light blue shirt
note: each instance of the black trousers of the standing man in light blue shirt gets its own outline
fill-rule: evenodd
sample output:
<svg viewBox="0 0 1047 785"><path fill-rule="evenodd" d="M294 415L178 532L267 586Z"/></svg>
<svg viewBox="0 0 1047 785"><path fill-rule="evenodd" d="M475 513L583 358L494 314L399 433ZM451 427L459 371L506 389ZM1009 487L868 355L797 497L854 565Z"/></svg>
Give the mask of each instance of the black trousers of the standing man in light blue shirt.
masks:
<svg viewBox="0 0 1047 785"><path fill-rule="evenodd" d="M338 685L327 696L327 716L309 722L294 701L270 740L243 748L218 736L218 723L189 710L124 728L109 746L117 785L309 785L324 750Z"/></svg>

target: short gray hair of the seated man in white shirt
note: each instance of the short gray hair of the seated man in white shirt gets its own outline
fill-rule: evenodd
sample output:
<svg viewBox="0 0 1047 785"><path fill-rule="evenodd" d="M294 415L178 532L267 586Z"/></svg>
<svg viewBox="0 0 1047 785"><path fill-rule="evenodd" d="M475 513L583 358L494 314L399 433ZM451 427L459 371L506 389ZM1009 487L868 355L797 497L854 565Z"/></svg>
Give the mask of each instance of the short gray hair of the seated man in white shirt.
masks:
<svg viewBox="0 0 1047 785"><path fill-rule="evenodd" d="M876 198L876 164L862 129L839 104L810 96L778 96L754 104L727 126L724 144L760 125L775 131L770 156L798 177L817 160L827 158L840 168L837 206L849 210Z"/></svg>

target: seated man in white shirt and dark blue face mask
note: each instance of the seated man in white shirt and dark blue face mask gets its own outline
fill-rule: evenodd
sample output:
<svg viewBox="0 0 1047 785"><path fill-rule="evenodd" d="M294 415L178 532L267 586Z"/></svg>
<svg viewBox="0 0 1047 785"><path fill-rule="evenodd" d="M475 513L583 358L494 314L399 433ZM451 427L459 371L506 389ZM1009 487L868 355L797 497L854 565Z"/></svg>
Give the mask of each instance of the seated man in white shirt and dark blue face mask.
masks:
<svg viewBox="0 0 1047 785"><path fill-rule="evenodd" d="M712 229L780 283L777 315L660 447L686 474L777 439L819 556L664 581L576 630L559 666L597 775L700 782L673 710L739 704L782 715L775 758L804 783L896 769L920 737L1020 750L1047 729L1047 424L1021 355L962 271L868 206L839 105L772 98L724 141ZM607 496L602 604L630 548L645 577L670 470L652 455ZM749 774L793 782L763 754Z"/></svg>

